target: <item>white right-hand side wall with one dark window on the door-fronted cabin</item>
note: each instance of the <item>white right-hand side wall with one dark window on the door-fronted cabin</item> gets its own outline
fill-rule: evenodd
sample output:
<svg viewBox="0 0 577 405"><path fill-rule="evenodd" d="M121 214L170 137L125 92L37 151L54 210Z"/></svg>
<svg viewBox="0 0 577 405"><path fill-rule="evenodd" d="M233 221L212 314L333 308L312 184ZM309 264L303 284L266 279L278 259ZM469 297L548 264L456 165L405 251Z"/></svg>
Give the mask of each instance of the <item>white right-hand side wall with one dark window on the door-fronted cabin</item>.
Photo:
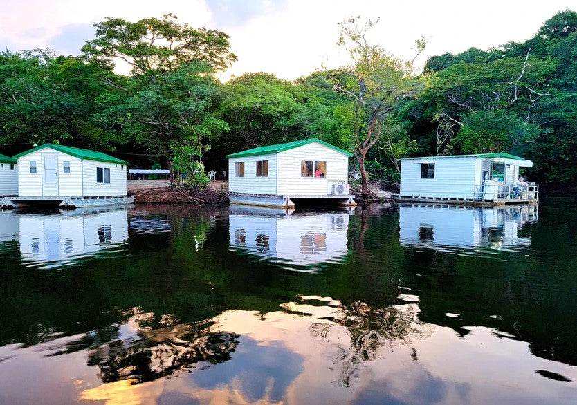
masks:
<svg viewBox="0 0 577 405"><path fill-rule="evenodd" d="M84 197L126 196L126 166L120 163L83 160ZM96 182L98 167L110 169L110 184Z"/></svg>

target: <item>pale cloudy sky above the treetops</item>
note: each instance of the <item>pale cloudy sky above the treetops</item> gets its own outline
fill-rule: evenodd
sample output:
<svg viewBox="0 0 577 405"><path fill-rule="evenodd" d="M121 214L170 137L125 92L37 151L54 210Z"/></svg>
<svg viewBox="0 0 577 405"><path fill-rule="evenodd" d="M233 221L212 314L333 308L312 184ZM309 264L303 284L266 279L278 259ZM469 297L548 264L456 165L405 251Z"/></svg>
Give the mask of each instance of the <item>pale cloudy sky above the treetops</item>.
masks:
<svg viewBox="0 0 577 405"><path fill-rule="evenodd" d="M337 23L351 16L381 19L370 41L402 59L412 59L415 39L428 37L422 65L432 55L523 41L556 12L577 10L576 0L0 0L0 6L0 48L78 55L95 35L94 22L172 12L190 26L230 35L239 60L221 79L262 71L290 80L346 63Z"/></svg>

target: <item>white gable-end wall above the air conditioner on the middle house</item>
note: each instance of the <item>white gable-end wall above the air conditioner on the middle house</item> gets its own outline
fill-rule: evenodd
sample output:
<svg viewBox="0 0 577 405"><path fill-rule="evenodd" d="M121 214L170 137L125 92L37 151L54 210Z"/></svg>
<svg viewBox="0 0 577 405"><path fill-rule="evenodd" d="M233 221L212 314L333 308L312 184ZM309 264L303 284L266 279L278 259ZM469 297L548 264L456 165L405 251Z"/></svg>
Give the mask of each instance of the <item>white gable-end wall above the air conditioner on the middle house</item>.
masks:
<svg viewBox="0 0 577 405"><path fill-rule="evenodd" d="M290 195L326 195L332 182L347 182L349 158L322 144L311 143L278 153L279 173L277 176L277 194ZM306 178L300 176L302 160L327 162L327 176L324 178Z"/></svg>

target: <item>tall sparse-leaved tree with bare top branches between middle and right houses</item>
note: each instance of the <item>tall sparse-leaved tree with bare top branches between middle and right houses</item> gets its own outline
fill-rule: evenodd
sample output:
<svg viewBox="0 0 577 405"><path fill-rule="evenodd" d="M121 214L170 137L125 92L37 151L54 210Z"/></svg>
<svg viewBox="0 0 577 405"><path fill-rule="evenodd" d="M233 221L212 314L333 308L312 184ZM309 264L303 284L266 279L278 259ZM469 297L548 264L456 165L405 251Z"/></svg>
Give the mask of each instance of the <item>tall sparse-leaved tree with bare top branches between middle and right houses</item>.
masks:
<svg viewBox="0 0 577 405"><path fill-rule="evenodd" d="M370 45L367 32L375 22L360 26L358 19L350 18L341 25L338 44L347 50L352 64L331 79L334 90L354 102L354 156L360 167L362 195L367 198L367 152L381 138L385 119L393 113L397 102L414 97L423 82L412 75L412 62L403 62L381 46ZM417 46L420 53L425 42L417 41Z"/></svg>

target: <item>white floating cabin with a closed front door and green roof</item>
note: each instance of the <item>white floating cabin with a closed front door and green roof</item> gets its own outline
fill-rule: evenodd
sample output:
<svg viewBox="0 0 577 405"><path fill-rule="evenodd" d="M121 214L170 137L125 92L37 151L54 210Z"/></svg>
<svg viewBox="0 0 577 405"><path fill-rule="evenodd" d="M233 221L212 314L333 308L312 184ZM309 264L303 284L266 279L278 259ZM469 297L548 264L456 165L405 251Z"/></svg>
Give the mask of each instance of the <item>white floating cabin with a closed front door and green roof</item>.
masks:
<svg viewBox="0 0 577 405"><path fill-rule="evenodd" d="M128 162L105 153L43 144L14 156L18 167L18 196L0 206L21 203L59 203L61 207L129 204Z"/></svg>

